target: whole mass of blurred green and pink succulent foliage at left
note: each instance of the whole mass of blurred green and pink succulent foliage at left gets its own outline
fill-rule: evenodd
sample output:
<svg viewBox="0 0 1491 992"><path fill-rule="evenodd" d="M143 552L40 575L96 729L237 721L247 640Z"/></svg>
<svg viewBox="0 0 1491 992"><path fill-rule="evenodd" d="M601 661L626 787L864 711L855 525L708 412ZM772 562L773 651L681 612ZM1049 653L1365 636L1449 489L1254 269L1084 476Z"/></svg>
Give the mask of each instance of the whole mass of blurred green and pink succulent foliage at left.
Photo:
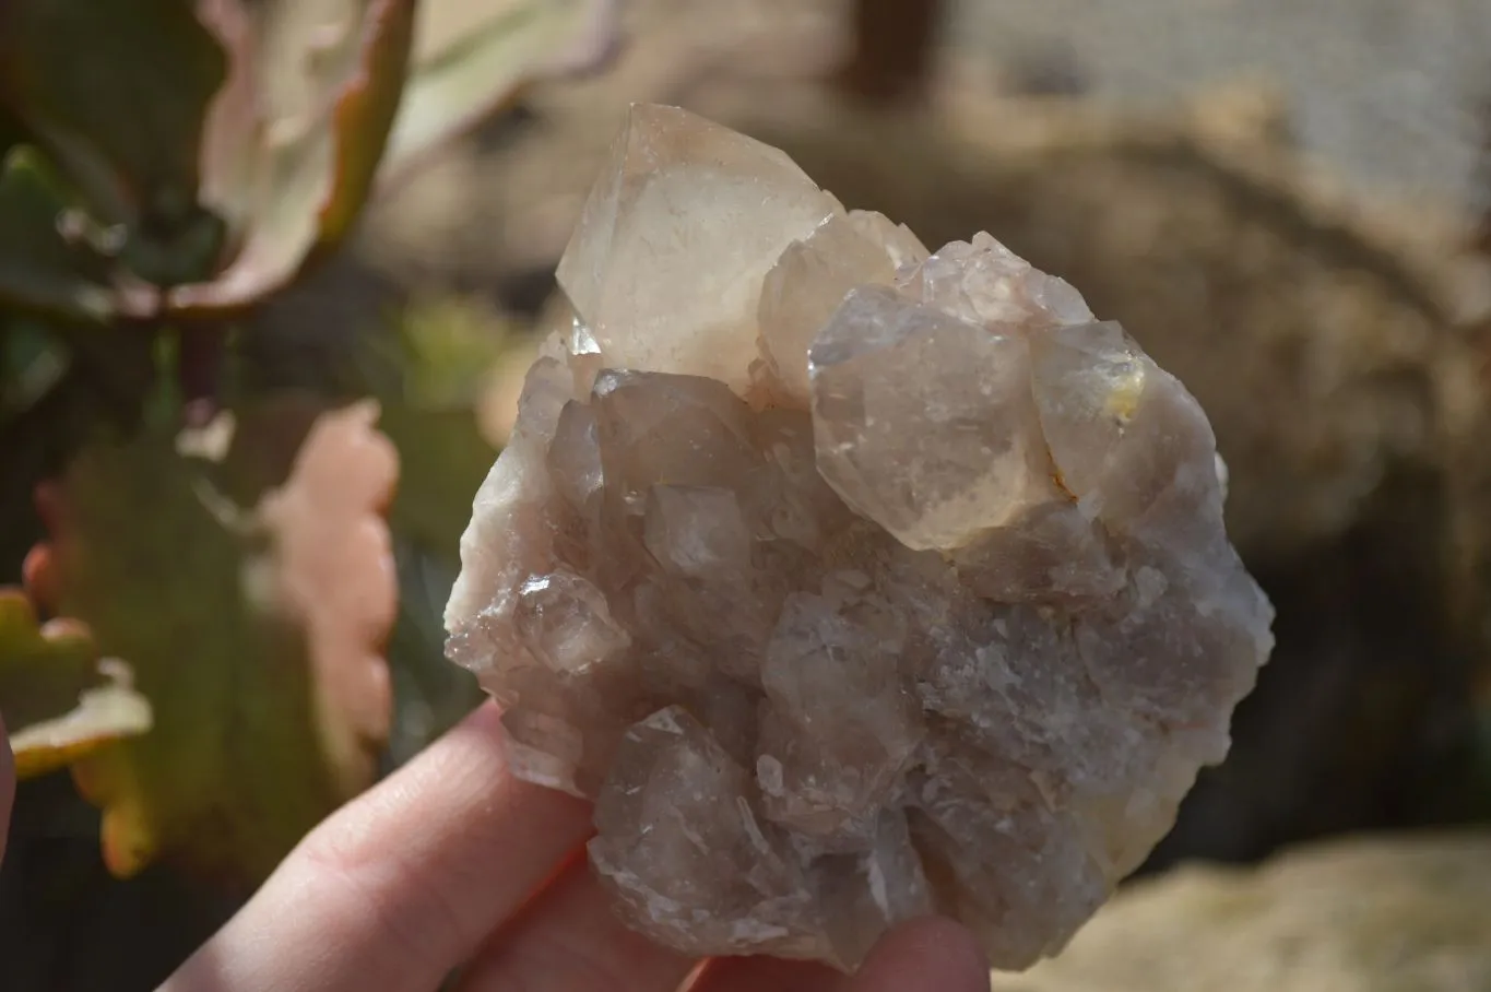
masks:
<svg viewBox="0 0 1491 992"><path fill-rule="evenodd" d="M221 917L479 698L440 613L501 328L349 328L294 391L245 336L613 6L0 3L0 988L154 986L180 934L66 920Z"/></svg>

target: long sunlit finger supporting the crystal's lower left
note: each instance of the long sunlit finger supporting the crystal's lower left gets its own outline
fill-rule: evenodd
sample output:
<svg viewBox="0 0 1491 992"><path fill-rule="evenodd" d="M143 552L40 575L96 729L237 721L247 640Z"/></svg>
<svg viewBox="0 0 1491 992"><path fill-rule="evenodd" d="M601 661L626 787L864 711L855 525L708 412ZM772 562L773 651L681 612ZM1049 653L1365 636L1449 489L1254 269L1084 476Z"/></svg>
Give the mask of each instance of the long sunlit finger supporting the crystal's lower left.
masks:
<svg viewBox="0 0 1491 992"><path fill-rule="evenodd" d="M589 804L513 777L482 706L312 831L163 989L432 989L589 832Z"/></svg>

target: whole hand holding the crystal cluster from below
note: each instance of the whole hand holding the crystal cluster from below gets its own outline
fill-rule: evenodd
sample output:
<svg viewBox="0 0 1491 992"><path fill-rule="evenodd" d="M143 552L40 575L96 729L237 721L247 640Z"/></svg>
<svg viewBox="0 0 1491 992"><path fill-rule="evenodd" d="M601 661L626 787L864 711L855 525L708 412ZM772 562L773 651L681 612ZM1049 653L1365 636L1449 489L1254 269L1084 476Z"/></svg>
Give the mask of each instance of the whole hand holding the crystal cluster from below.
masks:
<svg viewBox="0 0 1491 992"><path fill-rule="evenodd" d="M823 965L658 947L611 914L583 844L589 804L507 770L477 709L312 831L160 992L978 992L957 923L887 934L853 979Z"/></svg>

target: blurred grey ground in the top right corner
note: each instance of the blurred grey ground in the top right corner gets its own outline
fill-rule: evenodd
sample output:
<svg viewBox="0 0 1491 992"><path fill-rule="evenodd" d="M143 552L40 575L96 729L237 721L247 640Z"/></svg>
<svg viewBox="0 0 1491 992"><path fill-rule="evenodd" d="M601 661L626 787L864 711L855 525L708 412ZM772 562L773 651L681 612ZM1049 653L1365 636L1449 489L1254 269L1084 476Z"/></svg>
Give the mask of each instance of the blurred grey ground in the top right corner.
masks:
<svg viewBox="0 0 1491 992"><path fill-rule="evenodd" d="M947 37L992 81L1066 78L1129 106L1258 78L1366 194L1479 195L1485 0L957 0Z"/></svg>

